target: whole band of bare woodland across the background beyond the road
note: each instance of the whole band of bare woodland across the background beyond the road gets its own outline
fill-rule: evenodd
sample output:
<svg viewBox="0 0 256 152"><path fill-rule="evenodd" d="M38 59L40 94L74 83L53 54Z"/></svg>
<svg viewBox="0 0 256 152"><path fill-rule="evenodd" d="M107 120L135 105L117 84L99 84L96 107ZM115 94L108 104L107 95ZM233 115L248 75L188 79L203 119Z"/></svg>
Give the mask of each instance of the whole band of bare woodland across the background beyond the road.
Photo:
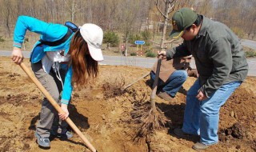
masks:
<svg viewBox="0 0 256 152"><path fill-rule="evenodd" d="M182 6L193 7L198 14L225 23L240 38L255 38L255 0L0 0L0 36L11 38L18 16L29 15L61 24L71 21L82 26L92 22L110 36L122 34L126 44L142 38L150 45L150 39L154 41L163 30L165 18L158 10L165 12L168 2L175 5L169 19ZM170 30L168 23L166 34ZM119 38L110 39L119 42Z"/></svg>

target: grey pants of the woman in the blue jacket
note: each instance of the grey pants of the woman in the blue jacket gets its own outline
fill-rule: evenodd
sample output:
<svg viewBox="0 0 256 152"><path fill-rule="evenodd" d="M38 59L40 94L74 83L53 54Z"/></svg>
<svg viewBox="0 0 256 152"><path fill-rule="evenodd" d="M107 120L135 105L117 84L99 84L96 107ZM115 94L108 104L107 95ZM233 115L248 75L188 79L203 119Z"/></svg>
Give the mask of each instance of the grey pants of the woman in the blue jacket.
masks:
<svg viewBox="0 0 256 152"><path fill-rule="evenodd" d="M31 63L32 70L34 75L38 78L39 82L42 83L42 86L50 93L58 105L60 105L60 93L62 92L62 82L64 84L64 79L66 75L66 70L59 70L62 82L58 80L54 70L50 70L50 73L47 74L42 69L42 62ZM50 130L58 133L66 133L66 121L59 120L58 112L54 109L54 106L50 104L47 98L42 100L42 109L40 112L40 120L36 126L36 131L43 138L50 137Z"/></svg>

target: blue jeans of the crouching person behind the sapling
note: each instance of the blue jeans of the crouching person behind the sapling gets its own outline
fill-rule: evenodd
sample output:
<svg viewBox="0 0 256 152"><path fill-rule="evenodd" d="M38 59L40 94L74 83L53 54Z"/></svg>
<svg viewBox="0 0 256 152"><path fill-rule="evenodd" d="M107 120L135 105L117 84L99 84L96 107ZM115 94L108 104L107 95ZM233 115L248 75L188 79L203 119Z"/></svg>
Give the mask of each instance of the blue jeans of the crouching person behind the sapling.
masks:
<svg viewBox="0 0 256 152"><path fill-rule="evenodd" d="M155 74L153 71L150 72L150 80L154 82ZM187 72L186 70L175 70L170 78L166 82L163 82L160 78L158 80L158 89L169 94L172 98L175 97L178 90L182 87L183 83L186 81Z"/></svg>

